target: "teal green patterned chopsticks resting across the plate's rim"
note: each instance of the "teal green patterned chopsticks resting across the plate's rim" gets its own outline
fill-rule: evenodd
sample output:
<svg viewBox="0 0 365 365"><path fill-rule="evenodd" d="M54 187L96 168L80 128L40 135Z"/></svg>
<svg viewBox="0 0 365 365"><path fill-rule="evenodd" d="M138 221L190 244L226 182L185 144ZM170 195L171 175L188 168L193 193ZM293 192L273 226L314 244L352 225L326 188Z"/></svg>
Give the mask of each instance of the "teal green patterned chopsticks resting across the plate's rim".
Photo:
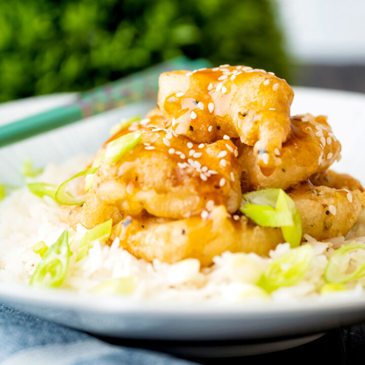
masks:
<svg viewBox="0 0 365 365"><path fill-rule="evenodd" d="M209 63L204 59L177 57L107 85L80 92L72 103L0 126L0 147L123 106L128 102L153 100L157 95L158 77L161 72L206 66L209 66Z"/></svg>

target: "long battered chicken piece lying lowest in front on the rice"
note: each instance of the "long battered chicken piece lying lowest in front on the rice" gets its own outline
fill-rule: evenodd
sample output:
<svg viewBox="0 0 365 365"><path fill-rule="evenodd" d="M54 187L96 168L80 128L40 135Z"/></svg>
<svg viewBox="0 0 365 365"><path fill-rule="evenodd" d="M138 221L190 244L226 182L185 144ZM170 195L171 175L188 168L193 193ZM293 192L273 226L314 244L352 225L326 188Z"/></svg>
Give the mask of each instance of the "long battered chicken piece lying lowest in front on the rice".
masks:
<svg viewBox="0 0 365 365"><path fill-rule="evenodd" d="M170 264L196 258L203 266L210 265L215 255L225 251L266 255L283 242L280 229L256 226L245 216L235 221L223 205L214 207L207 219L127 217L113 227L112 239L115 237L137 258Z"/></svg>

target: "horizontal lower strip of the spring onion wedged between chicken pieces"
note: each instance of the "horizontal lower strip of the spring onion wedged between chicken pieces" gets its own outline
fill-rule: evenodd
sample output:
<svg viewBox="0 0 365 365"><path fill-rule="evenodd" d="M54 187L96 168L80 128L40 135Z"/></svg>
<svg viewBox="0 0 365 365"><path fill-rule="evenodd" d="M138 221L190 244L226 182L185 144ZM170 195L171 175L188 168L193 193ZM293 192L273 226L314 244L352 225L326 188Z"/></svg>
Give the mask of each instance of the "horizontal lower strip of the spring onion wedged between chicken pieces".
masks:
<svg viewBox="0 0 365 365"><path fill-rule="evenodd" d="M277 211L270 205L246 204L240 210L260 226L281 227L293 225L293 217L289 211Z"/></svg>

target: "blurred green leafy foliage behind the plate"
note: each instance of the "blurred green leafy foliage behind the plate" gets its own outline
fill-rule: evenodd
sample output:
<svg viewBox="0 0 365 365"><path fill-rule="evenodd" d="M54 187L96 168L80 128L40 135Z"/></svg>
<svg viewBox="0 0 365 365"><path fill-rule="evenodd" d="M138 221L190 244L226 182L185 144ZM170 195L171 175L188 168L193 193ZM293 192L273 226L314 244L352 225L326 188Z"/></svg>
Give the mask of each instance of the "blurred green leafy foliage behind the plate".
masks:
<svg viewBox="0 0 365 365"><path fill-rule="evenodd" d="M90 89L181 54L287 76L270 0L0 3L0 101Z"/></svg>

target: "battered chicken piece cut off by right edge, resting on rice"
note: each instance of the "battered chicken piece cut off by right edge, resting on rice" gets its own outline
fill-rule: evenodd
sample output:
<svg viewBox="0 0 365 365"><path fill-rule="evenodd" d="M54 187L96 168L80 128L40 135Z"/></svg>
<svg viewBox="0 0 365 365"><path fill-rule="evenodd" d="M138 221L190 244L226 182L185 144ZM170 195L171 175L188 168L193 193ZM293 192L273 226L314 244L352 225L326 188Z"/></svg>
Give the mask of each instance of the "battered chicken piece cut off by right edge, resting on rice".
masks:
<svg viewBox="0 0 365 365"><path fill-rule="evenodd" d="M365 206L365 193L314 187L304 182L287 192L302 217L303 233L317 240L345 236Z"/></svg>

